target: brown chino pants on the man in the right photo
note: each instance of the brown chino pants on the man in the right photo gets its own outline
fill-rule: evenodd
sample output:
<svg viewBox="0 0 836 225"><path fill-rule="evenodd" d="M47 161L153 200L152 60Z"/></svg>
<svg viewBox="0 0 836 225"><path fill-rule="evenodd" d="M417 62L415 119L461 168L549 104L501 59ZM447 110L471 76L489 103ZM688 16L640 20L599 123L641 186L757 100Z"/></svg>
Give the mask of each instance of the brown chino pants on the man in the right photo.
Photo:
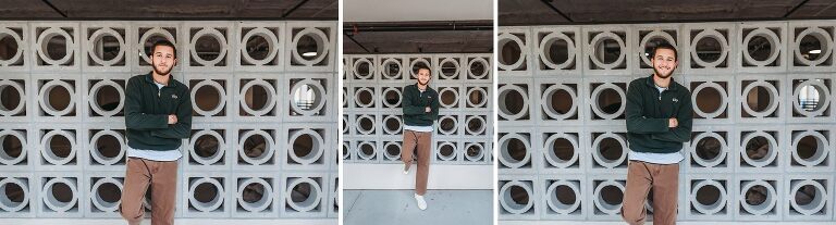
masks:
<svg viewBox="0 0 836 225"><path fill-rule="evenodd" d="M631 225L644 224L644 201L653 190L653 224L676 224L679 189L679 164L653 164L630 161L627 166L627 187L622 205L622 218Z"/></svg>

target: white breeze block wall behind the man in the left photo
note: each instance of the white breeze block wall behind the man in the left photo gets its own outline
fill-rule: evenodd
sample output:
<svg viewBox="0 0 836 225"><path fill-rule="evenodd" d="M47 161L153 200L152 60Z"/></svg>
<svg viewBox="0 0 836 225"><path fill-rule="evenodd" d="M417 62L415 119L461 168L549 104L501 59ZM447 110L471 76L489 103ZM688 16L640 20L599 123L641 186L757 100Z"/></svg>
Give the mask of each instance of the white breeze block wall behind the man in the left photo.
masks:
<svg viewBox="0 0 836 225"><path fill-rule="evenodd" d="M0 23L0 217L120 217L124 87L177 46L177 217L336 217L336 22ZM147 214L148 215L148 214Z"/></svg>

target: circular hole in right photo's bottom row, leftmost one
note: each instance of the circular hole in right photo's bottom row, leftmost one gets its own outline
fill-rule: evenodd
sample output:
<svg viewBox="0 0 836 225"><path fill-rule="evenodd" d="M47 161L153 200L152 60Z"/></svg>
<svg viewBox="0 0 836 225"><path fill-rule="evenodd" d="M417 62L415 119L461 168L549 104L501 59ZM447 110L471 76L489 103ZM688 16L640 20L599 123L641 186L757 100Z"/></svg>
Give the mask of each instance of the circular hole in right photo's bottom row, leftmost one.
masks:
<svg viewBox="0 0 836 225"><path fill-rule="evenodd" d="M522 214L534 205L531 201L533 195L530 184L519 180L508 182L500 189L500 204L512 214Z"/></svg>

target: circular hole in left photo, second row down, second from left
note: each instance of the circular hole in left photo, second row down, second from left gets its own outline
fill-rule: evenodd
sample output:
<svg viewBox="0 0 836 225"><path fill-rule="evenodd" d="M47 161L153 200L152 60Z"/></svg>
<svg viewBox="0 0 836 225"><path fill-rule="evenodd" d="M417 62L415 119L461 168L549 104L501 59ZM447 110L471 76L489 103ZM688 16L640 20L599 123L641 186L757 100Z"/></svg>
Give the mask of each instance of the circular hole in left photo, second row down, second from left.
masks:
<svg viewBox="0 0 836 225"><path fill-rule="evenodd" d="M48 115L62 116L75 111L75 88L67 82L53 79L40 89L40 108Z"/></svg>

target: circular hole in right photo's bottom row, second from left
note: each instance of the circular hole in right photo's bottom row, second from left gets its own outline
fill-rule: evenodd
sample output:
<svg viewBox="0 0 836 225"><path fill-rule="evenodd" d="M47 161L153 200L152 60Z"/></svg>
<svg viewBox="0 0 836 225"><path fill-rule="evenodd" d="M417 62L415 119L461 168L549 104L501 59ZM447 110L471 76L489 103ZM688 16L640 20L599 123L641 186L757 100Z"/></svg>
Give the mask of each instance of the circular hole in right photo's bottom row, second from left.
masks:
<svg viewBox="0 0 836 225"><path fill-rule="evenodd" d="M568 214L580 207L580 186L576 182L557 180L549 185L545 203L560 214Z"/></svg>

